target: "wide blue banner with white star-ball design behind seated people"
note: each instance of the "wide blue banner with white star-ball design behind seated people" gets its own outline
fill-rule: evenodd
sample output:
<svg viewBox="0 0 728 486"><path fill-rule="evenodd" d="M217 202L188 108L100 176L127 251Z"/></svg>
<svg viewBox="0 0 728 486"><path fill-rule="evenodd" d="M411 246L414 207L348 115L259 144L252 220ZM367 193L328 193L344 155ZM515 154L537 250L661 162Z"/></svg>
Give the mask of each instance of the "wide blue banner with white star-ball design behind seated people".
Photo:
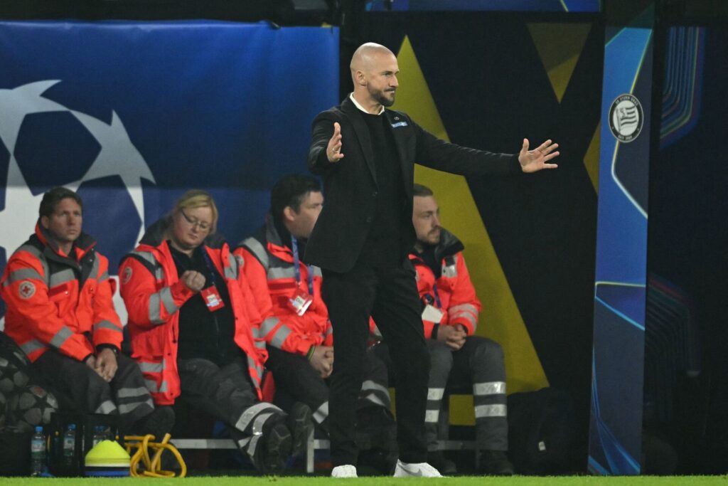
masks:
<svg viewBox="0 0 728 486"><path fill-rule="evenodd" d="M306 171L338 63L336 28L0 22L0 271L57 185L83 198L114 274L187 189L211 192L218 231L241 240L274 181Z"/></svg>

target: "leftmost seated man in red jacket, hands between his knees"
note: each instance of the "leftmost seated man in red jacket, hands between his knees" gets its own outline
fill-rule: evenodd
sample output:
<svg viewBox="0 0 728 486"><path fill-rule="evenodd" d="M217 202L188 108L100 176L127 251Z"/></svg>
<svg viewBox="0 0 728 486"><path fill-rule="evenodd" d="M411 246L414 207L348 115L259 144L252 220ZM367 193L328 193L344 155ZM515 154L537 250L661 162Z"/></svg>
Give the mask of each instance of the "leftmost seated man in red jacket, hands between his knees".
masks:
<svg viewBox="0 0 728 486"><path fill-rule="evenodd" d="M119 354L122 324L108 260L82 232L83 202L54 187L43 195L36 232L0 280L5 332L50 384L62 408L119 415L122 434L161 438L171 409L154 409L137 364Z"/></svg>

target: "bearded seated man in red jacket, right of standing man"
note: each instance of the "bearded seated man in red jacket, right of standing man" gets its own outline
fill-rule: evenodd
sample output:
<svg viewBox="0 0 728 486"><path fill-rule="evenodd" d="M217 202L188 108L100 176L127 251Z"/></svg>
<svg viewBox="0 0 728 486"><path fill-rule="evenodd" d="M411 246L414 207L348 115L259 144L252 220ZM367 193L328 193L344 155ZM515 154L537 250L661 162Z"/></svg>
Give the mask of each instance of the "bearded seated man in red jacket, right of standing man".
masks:
<svg viewBox="0 0 728 486"><path fill-rule="evenodd" d="M505 364L497 342L475 335L480 301L462 255L463 245L440 227L440 208L432 190L414 184L412 223L417 235L410 254L422 299L422 323L430 350L427 384L427 462L443 474L454 474L455 464L437 450L438 420L448 387L472 386L476 442L483 451L484 474L510 475L507 459Z"/></svg>

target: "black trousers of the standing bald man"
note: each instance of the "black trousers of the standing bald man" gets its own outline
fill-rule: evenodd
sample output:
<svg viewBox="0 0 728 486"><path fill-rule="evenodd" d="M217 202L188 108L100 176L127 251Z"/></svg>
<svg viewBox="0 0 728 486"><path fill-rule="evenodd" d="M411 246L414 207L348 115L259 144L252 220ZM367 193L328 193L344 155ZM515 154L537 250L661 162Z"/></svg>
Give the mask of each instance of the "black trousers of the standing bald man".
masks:
<svg viewBox="0 0 728 486"><path fill-rule="evenodd" d="M397 443L406 463L427 460L424 412L430 355L424 342L415 274L409 262L377 269L357 265L347 273L323 271L322 297L333 326L330 391L331 460L356 465L356 401L363 382L369 316L392 349L397 386Z"/></svg>

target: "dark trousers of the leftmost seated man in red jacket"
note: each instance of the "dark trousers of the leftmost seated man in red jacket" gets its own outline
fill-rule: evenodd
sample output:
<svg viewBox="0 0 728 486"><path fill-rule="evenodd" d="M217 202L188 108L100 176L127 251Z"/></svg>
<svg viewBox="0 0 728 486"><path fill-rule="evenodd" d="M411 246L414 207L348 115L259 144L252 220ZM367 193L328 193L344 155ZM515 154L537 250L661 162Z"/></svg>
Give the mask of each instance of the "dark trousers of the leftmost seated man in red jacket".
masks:
<svg viewBox="0 0 728 486"><path fill-rule="evenodd" d="M122 434L133 431L133 424L154 411L154 402L144 384L138 364L132 358L116 356L116 374L104 380L87 364L47 350L33 362L44 377L60 405L82 413L119 415Z"/></svg>

